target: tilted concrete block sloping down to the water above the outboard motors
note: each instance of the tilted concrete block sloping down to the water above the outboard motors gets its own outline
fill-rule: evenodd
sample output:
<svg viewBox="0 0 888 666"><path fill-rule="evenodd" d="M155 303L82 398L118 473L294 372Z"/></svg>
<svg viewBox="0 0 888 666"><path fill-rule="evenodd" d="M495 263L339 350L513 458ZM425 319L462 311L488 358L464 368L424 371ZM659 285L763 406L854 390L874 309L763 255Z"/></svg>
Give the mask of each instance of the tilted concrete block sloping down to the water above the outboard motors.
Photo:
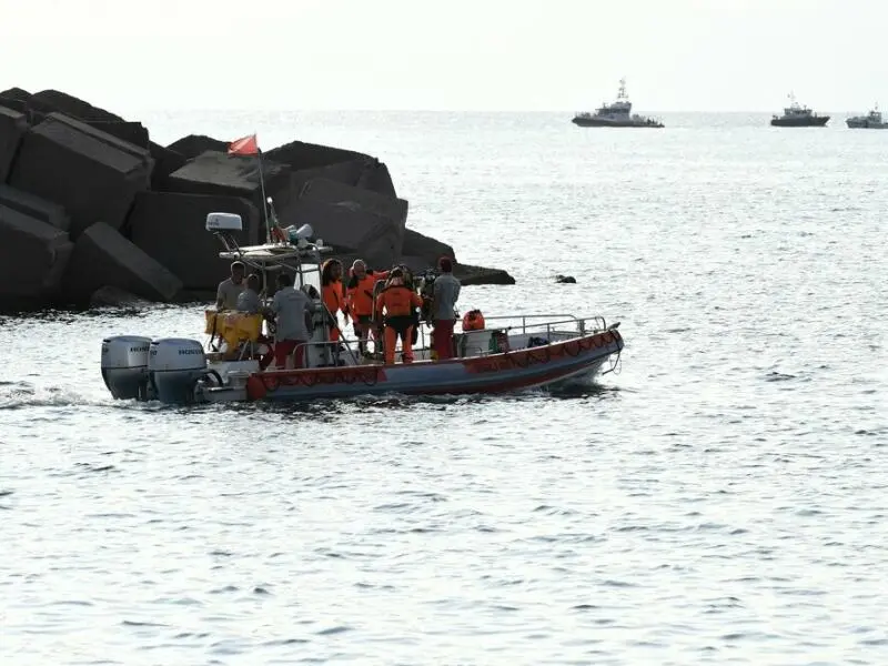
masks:
<svg viewBox="0 0 888 666"><path fill-rule="evenodd" d="M182 282L115 229L98 222L77 240L64 286L73 302L85 304L103 286L150 301L172 301L182 290Z"/></svg>

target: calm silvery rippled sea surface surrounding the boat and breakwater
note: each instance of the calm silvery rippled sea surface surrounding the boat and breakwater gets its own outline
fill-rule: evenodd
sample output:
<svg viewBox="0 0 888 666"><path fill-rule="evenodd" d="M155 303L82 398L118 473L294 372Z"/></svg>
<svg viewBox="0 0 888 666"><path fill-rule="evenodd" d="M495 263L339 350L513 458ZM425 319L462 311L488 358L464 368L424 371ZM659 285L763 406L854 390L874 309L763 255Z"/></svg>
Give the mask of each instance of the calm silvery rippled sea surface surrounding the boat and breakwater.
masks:
<svg viewBox="0 0 888 666"><path fill-rule="evenodd" d="M109 398L101 339L201 307L0 317L0 663L888 664L888 132L142 118L377 154L516 278L464 310L619 321L620 372L161 408Z"/></svg>

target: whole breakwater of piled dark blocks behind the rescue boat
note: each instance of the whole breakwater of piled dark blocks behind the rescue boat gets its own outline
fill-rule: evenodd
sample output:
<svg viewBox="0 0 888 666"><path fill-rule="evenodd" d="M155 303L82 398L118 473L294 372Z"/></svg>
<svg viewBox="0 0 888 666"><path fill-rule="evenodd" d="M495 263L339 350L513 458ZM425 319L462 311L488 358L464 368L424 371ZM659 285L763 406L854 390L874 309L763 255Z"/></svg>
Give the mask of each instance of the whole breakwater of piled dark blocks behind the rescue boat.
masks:
<svg viewBox="0 0 888 666"><path fill-rule="evenodd" d="M97 292L212 297L229 268L206 214L240 214L243 244L265 238L258 160L228 148L199 134L160 145L141 122L54 90L0 92L0 311L104 302ZM294 141L263 152L262 165L282 225L310 223L344 262L423 270L456 260L406 226L407 202L373 157ZM514 283L458 261L454 273Z"/></svg>

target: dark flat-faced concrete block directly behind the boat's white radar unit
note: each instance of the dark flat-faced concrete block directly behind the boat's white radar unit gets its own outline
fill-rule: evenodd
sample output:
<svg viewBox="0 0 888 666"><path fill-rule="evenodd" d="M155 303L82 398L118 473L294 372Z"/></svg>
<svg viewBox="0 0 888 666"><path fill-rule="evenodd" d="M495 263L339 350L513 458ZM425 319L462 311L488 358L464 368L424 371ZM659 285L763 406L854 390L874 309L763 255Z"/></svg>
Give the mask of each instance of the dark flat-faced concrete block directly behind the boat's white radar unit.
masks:
<svg viewBox="0 0 888 666"><path fill-rule="evenodd" d="M208 213L213 212L241 215L244 231L235 239L242 245L259 242L259 211L246 199L169 192L137 195L128 224L130 238L175 274L185 289L213 290L229 274L230 264L219 259L223 246L204 228Z"/></svg>

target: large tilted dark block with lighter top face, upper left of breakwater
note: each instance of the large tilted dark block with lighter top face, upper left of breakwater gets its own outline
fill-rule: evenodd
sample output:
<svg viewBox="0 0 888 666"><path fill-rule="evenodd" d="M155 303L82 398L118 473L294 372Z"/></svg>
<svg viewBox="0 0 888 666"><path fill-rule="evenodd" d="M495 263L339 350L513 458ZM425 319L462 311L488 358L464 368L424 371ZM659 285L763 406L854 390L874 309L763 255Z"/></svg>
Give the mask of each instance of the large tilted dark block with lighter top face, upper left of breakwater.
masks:
<svg viewBox="0 0 888 666"><path fill-rule="evenodd" d="M144 149L50 114L24 135L9 183L63 205L77 240L97 220L119 229L135 193L148 188L151 168Z"/></svg>

